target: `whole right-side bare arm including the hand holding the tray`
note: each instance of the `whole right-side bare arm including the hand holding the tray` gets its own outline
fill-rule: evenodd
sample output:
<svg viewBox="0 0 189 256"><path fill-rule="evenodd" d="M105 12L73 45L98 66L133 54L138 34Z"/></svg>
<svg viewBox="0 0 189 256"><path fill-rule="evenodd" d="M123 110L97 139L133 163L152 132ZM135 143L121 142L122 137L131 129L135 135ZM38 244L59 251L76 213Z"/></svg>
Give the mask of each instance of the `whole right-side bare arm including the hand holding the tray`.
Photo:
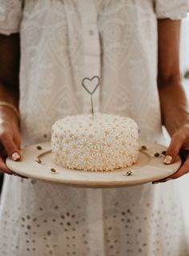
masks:
<svg viewBox="0 0 189 256"><path fill-rule="evenodd" d="M171 144L164 159L165 164L175 162L181 151L185 151L183 164L175 174L164 182L179 178L189 171L189 112L187 96L182 86L179 70L180 21L159 19L158 89L162 123L171 135ZM181 155L182 156L182 155ZM156 183L156 182L155 182Z"/></svg>

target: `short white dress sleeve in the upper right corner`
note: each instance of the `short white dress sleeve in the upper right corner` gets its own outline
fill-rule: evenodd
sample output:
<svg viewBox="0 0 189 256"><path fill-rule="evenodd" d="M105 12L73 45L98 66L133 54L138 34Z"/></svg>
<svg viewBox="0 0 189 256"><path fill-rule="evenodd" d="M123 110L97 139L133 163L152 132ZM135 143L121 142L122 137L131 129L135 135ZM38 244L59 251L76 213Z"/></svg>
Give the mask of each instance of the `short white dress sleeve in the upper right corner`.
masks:
<svg viewBox="0 0 189 256"><path fill-rule="evenodd" d="M182 19L189 11L188 0L155 0L158 19Z"/></svg>

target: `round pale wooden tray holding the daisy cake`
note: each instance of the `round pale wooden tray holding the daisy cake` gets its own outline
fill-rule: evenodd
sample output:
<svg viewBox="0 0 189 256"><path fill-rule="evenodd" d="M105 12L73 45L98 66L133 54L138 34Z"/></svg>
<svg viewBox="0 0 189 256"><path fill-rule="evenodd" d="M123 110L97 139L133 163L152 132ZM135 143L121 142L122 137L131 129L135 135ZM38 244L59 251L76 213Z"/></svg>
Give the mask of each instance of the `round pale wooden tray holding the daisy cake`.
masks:
<svg viewBox="0 0 189 256"><path fill-rule="evenodd" d="M164 155L161 153L166 151L166 147L155 142L140 142L140 147L142 145L147 149L139 151L137 163L131 168L115 171L78 171L59 167L52 161L50 142L22 149L22 159L18 162L6 159L6 165L19 175L32 179L81 188L117 188L145 184L163 179L179 169L179 157L171 165L163 164ZM155 157L155 152L159 152L160 155ZM127 175L130 169L133 174Z"/></svg>

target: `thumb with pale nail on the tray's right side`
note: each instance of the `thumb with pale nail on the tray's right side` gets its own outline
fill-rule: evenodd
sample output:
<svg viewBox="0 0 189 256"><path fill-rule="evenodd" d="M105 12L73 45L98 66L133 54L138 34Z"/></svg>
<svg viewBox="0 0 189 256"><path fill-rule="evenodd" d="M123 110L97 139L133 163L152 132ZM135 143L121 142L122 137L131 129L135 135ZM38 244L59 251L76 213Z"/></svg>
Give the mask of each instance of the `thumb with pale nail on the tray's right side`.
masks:
<svg viewBox="0 0 189 256"><path fill-rule="evenodd" d="M179 155L179 150L183 146L184 137L182 134L174 134L171 138L171 143L167 148L167 152L163 163L170 164L174 163L177 155Z"/></svg>

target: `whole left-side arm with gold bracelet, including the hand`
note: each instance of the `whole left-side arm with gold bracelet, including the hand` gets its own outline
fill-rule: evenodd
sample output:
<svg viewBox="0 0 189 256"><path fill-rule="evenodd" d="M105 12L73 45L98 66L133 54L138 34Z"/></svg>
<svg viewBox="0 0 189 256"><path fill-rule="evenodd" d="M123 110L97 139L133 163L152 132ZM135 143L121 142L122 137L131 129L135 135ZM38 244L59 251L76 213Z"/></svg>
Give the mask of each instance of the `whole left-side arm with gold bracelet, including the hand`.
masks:
<svg viewBox="0 0 189 256"><path fill-rule="evenodd" d="M0 35L0 171L12 174L5 159L20 159L18 107L19 35Z"/></svg>

